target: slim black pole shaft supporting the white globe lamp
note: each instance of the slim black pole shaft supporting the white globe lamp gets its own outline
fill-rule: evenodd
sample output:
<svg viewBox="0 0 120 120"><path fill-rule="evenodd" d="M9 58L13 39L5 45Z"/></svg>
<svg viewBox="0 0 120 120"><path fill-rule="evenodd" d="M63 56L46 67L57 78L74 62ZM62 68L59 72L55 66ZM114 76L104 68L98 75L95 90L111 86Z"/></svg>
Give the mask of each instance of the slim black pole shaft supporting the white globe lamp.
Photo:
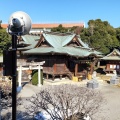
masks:
<svg viewBox="0 0 120 120"><path fill-rule="evenodd" d="M16 102L17 102L17 87L16 87L16 67L17 67L17 36L12 35L12 120L16 120Z"/></svg>

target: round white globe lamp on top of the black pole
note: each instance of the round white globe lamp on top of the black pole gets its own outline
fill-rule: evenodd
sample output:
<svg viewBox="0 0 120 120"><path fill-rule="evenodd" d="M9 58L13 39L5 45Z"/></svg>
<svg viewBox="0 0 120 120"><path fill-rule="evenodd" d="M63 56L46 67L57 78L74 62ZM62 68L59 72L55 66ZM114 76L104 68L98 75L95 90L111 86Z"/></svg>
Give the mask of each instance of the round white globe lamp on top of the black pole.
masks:
<svg viewBox="0 0 120 120"><path fill-rule="evenodd" d="M22 11L14 12L8 21L8 33L16 35L28 34L31 29L31 18Z"/></svg>

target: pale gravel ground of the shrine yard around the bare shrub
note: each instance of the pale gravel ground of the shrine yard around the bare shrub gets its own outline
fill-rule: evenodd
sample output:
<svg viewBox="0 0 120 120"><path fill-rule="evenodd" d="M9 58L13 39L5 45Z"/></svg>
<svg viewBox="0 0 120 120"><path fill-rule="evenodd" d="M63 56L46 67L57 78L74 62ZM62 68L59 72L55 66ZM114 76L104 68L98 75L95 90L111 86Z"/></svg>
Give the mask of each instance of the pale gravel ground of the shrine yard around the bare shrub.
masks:
<svg viewBox="0 0 120 120"><path fill-rule="evenodd" d="M99 90L104 99L105 104L101 106L101 109L95 114L96 118L94 120L120 120L120 87L118 85L110 85L108 80L110 77L98 76L99 87L95 90ZM86 83L89 80L83 80L81 82L74 82L68 79L55 79L45 80L44 86L49 85L60 85L60 84L77 84L82 87L86 87ZM22 97L24 100L24 105L27 104L26 98L31 97L35 93L40 91L41 87L33 86L31 84L26 84L18 96ZM20 108L21 110L23 107Z"/></svg>

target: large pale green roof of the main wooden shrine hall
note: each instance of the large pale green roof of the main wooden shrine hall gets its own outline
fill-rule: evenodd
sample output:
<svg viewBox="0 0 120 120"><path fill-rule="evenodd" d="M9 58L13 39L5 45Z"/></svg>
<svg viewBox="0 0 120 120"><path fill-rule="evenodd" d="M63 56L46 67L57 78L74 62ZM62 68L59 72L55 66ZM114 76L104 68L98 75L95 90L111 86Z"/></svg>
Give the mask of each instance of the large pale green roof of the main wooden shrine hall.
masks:
<svg viewBox="0 0 120 120"><path fill-rule="evenodd" d="M84 44L80 37L76 34L52 34L52 33L43 33L44 40L50 44L49 47L37 46L23 52L23 54L66 54L75 57L87 57L87 56L98 56L101 57L101 53L97 52L91 48L88 48ZM79 46L69 46L68 44L72 42L73 38L77 37ZM40 39L42 40L42 39ZM38 42L40 42L40 40Z"/></svg>

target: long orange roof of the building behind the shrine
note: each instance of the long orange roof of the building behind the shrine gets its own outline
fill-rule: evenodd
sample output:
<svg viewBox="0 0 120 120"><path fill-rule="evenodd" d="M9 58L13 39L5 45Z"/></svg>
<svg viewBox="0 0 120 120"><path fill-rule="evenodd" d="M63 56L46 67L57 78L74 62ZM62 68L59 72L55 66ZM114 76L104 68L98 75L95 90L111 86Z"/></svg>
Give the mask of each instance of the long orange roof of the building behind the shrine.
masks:
<svg viewBox="0 0 120 120"><path fill-rule="evenodd" d="M61 23L44 23L44 24L32 24L32 28L53 28L58 27ZM1 24L2 28L7 28L8 24ZM70 28L73 26L85 27L84 23L62 23L63 27Z"/></svg>

